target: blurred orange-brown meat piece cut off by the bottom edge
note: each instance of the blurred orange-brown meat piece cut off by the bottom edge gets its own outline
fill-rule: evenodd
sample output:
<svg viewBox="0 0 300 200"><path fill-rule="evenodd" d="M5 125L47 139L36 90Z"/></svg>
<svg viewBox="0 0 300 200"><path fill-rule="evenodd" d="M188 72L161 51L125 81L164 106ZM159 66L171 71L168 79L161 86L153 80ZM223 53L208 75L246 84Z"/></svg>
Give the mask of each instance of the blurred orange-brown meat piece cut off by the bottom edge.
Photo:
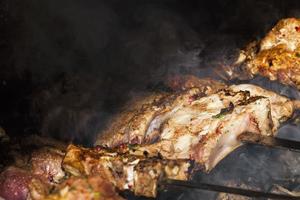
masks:
<svg viewBox="0 0 300 200"><path fill-rule="evenodd" d="M71 177L59 185L45 200L122 200L113 185L101 176Z"/></svg>

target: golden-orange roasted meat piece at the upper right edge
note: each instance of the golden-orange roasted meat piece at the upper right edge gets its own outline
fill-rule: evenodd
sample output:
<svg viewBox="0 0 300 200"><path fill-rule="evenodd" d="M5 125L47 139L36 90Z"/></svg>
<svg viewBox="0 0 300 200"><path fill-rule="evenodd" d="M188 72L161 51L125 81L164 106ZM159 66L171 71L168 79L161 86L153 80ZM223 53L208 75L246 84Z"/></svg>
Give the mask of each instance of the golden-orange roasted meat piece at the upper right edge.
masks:
<svg viewBox="0 0 300 200"><path fill-rule="evenodd" d="M250 75L259 74L300 89L300 19L280 20L255 47L252 44L238 59Z"/></svg>

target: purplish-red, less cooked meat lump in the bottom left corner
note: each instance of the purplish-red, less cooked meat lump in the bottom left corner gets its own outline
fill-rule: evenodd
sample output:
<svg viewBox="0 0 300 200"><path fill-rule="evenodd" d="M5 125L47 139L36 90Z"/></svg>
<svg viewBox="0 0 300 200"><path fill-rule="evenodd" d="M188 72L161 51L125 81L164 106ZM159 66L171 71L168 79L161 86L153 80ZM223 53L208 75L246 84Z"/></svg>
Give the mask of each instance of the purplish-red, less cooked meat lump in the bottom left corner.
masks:
<svg viewBox="0 0 300 200"><path fill-rule="evenodd" d="M12 146L18 147L18 145ZM13 147L10 151L13 151L14 156L17 157L14 163L17 167L10 166L1 173L0 197L7 200L25 200L29 197L36 200L43 199L49 189L57 185L65 176L61 166L64 153L55 148L36 149L25 145L28 147L26 150L29 152L26 153L29 155L24 156ZM32 151L31 156L30 151Z"/></svg>

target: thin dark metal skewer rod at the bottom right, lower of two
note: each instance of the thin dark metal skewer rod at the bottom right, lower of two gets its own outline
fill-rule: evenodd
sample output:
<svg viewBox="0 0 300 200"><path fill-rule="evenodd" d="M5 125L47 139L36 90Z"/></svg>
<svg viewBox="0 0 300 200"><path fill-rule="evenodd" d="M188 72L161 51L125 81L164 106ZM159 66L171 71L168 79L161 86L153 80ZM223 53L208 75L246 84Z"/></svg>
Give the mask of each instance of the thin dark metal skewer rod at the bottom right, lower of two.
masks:
<svg viewBox="0 0 300 200"><path fill-rule="evenodd" d="M215 184L208 184L208 183L193 183L193 182L186 182L186 181L178 181L178 180L165 180L161 183L163 186L171 186L171 187L184 187L190 189L197 189L197 190L209 190L214 192L224 192L229 194L236 194L242 195L252 198L269 198L269 199L300 199L300 197L290 196L286 194L277 194L277 193L268 193L256 190L248 190L236 187L229 187L229 186L222 186L222 185L215 185Z"/></svg>

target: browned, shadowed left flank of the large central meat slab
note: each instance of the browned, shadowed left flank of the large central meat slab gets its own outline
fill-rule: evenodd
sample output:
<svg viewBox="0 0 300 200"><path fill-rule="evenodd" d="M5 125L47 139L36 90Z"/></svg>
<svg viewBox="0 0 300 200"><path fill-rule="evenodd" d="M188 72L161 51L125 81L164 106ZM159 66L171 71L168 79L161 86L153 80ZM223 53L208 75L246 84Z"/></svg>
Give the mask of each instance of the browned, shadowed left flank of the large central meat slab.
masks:
<svg viewBox="0 0 300 200"><path fill-rule="evenodd" d="M150 122L155 116L167 113L179 105L189 104L193 98L204 94L198 88L192 88L175 94L158 94L137 102L133 108L116 117L112 124L98 134L95 145L115 147L120 144L148 143L155 138L146 137ZM150 98L150 100L149 100ZM144 103L146 102L146 103Z"/></svg>

